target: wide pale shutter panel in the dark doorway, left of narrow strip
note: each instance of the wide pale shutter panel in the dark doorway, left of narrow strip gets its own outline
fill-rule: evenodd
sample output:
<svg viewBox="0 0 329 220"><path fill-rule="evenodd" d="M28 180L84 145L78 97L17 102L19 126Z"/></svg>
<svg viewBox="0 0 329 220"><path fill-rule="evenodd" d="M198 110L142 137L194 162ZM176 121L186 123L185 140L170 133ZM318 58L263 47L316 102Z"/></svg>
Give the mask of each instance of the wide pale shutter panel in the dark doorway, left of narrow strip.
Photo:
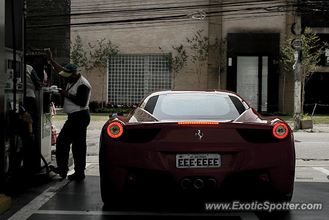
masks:
<svg viewBox="0 0 329 220"><path fill-rule="evenodd" d="M258 109L258 57L237 57L236 93Z"/></svg>

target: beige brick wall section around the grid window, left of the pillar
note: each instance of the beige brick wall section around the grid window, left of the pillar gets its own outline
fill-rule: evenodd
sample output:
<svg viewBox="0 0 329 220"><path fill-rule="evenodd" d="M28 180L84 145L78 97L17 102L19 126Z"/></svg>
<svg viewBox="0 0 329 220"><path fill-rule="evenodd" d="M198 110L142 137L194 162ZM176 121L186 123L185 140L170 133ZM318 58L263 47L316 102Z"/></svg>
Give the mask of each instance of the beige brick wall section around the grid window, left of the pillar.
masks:
<svg viewBox="0 0 329 220"><path fill-rule="evenodd" d="M83 2L83 3L81 3ZM135 1L136 2L136 1ZM172 4L166 5L170 3L170 1L166 1L166 4L163 7L174 7L174 6L182 6L183 4L177 4L177 1L171 1ZM184 3L185 5L191 5L190 1L179 1L179 3ZM98 1L98 4L108 3L108 1ZM126 3L126 2L125 2ZM129 8L137 8L134 6L138 3L130 4ZM139 3L140 5L141 3ZM143 2L142 4L155 4L154 1ZM208 1L200 1L197 4L208 4ZM86 4L85 1L80 0L72 0L71 5L75 6L74 9L78 10L77 7L80 5L80 8L84 8L83 5ZM117 5L116 6L120 6ZM121 6L123 6L121 4ZM158 6L161 6L158 5ZM157 7L158 7L157 6ZM140 8L141 6L138 6ZM144 6L143 6L144 7ZM148 6L145 6L148 7ZM152 6L154 7L154 6ZM89 7L90 11L93 11L93 7ZM120 8L122 9L122 8ZM207 9L205 9L206 11ZM191 13L196 11L196 9L191 10L180 10L181 13ZM174 11L175 12L175 11ZM71 12L71 13L74 13ZM137 14L130 14L137 15ZM171 12L163 13L159 12L155 15L151 16L169 16ZM133 16L136 18L136 16ZM137 17L147 17L147 16L137 16ZM121 20L121 19L130 19L131 17L107 17L105 19L97 19L97 21L109 21L109 20ZM71 23L83 22L84 19L71 19ZM77 34L80 35L81 40L85 45L85 49L89 50L88 42L92 45L96 44L97 40L106 38L106 40L111 39L111 42L118 46L120 50L120 54L155 54L161 53L159 50L159 46L163 49L165 53L169 53L170 51L174 52L172 49L173 46L178 46L183 44L188 53L191 53L191 49L189 48L189 44L186 41L186 38L192 38L192 36L196 33L197 30L203 29L203 34L208 35L208 20L193 20L193 19L184 19L185 22L171 22L171 23L155 23L155 22L140 22L141 24L127 24L127 25L107 25L107 26L93 26L93 27L79 27L71 28L71 41L74 42ZM88 22L93 22L93 19L84 20ZM156 21L158 22L158 21ZM173 25L174 24L174 25ZM155 26L157 25L157 26ZM162 26L166 25L166 26ZM169 25L169 26L168 26ZM141 26L149 26L149 27L141 27ZM92 30L92 29L101 29L101 30ZM91 31L90 31L91 30ZM188 66L183 68L181 72L176 77L175 89L197 89L198 88L198 80L197 75L194 73L194 65L189 60ZM84 71L82 71L84 73ZM101 79L98 77L98 71L93 70L91 77L88 78L90 84L93 86L92 97L91 100L101 99ZM106 83L106 82L105 82ZM207 78L207 67L203 69L202 77L201 77L201 88L207 88L208 78ZM106 86L106 84L105 84ZM104 97L106 98L106 97ZM106 99L105 99L106 100Z"/></svg>

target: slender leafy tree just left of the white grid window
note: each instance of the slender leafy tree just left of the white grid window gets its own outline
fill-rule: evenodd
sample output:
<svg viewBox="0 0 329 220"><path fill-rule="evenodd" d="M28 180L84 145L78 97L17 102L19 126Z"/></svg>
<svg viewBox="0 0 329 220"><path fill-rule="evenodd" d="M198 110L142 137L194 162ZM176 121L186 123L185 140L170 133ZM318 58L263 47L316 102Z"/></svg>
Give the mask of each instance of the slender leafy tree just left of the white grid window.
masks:
<svg viewBox="0 0 329 220"><path fill-rule="evenodd" d="M105 38L97 40L98 47L96 48L96 45L92 46L89 44L89 47L91 49L94 49L94 51L90 51L90 58L93 59L93 68L97 68L101 75L99 77L102 78L102 108L103 108L103 102L104 102L104 81L105 77L107 76L107 68L108 68L108 58L116 56L119 52L118 47L114 46L110 40L108 40L107 43L105 43Z"/></svg>

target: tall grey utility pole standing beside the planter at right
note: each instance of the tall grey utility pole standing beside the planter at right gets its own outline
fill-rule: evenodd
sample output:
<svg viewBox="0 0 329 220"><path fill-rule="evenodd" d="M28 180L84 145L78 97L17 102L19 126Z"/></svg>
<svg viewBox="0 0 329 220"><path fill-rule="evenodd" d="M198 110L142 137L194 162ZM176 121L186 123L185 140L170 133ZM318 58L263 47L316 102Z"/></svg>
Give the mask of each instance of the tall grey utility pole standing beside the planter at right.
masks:
<svg viewBox="0 0 329 220"><path fill-rule="evenodd" d="M295 102L294 102L294 130L300 129L300 113L301 113L301 13L300 13L300 0L297 0L297 16L296 16L296 46L295 46L295 60L296 63L294 65L295 71Z"/></svg>

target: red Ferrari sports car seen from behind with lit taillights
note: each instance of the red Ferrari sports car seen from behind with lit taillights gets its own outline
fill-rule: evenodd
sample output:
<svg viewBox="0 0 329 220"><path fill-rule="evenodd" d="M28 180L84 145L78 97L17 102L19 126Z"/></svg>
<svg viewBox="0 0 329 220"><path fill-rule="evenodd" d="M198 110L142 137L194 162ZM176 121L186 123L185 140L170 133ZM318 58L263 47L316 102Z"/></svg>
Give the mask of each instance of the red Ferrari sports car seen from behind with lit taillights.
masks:
<svg viewBox="0 0 329 220"><path fill-rule="evenodd" d="M128 191L288 201L294 136L284 120L261 116L231 91L154 91L105 123L99 169L105 204Z"/></svg>

